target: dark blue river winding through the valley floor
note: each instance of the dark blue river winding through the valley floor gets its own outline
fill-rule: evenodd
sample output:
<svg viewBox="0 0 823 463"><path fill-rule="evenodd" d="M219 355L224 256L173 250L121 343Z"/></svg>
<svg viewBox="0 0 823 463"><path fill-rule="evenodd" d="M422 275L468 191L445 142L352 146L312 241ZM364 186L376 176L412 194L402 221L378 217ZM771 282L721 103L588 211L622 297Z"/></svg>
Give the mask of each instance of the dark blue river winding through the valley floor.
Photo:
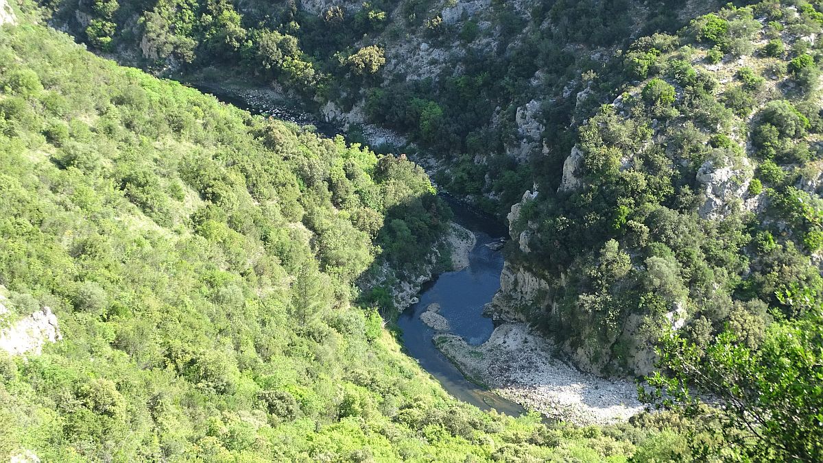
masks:
<svg viewBox="0 0 823 463"><path fill-rule="evenodd" d="M294 109L244 100L235 93L212 86L193 86L204 93L214 95L218 100L246 109L249 113L271 115L291 121L300 126L313 126L320 135L334 137L341 133L331 123L319 122L310 114ZM444 389L458 400L476 405L481 410L497 410L500 413L519 416L525 414L523 407L506 400L486 388L470 382L463 373L442 354L433 342L435 331L421 321L420 315L431 303L440 304L440 315L449 320L450 332L462 336L472 345L480 345L491 336L495 326L490 318L483 317L483 306L500 289L500 272L503 270L503 256L486 244L500 242L507 230L491 217L470 211L467 206L448 196L444 199L454 211L454 221L463 225L477 236L477 245L469 254L469 265L462 271L449 271L439 275L421 289L420 302L407 308L398 317L398 327L402 331L402 344L407 354L420 363L435 377Z"/></svg>

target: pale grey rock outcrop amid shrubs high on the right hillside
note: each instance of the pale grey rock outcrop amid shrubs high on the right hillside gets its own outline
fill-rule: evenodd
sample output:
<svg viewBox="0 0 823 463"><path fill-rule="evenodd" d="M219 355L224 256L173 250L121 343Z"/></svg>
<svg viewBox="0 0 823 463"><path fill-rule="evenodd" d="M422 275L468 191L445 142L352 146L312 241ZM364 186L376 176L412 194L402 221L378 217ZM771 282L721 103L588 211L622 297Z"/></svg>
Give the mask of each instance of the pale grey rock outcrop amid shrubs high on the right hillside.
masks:
<svg viewBox="0 0 823 463"><path fill-rule="evenodd" d="M734 210L736 202L747 209L755 207L754 204L739 204L749 189L751 174L751 164L746 158L742 158L737 167L729 160L722 163L713 160L704 162L697 171L697 181L703 186L702 192L706 197L698 211L700 217L709 220L723 218Z"/></svg>

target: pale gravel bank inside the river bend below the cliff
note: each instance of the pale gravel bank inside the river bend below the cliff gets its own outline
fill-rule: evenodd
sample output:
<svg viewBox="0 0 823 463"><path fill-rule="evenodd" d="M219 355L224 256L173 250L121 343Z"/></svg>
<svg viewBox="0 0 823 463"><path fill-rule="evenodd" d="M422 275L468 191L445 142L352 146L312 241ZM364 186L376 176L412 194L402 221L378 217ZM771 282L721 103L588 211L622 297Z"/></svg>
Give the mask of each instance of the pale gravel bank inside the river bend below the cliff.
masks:
<svg viewBox="0 0 823 463"><path fill-rule="evenodd" d="M435 344L467 377L546 418L613 424L643 410L634 382L604 379L560 362L551 343L523 323L498 326L482 345L452 334L435 336Z"/></svg>

